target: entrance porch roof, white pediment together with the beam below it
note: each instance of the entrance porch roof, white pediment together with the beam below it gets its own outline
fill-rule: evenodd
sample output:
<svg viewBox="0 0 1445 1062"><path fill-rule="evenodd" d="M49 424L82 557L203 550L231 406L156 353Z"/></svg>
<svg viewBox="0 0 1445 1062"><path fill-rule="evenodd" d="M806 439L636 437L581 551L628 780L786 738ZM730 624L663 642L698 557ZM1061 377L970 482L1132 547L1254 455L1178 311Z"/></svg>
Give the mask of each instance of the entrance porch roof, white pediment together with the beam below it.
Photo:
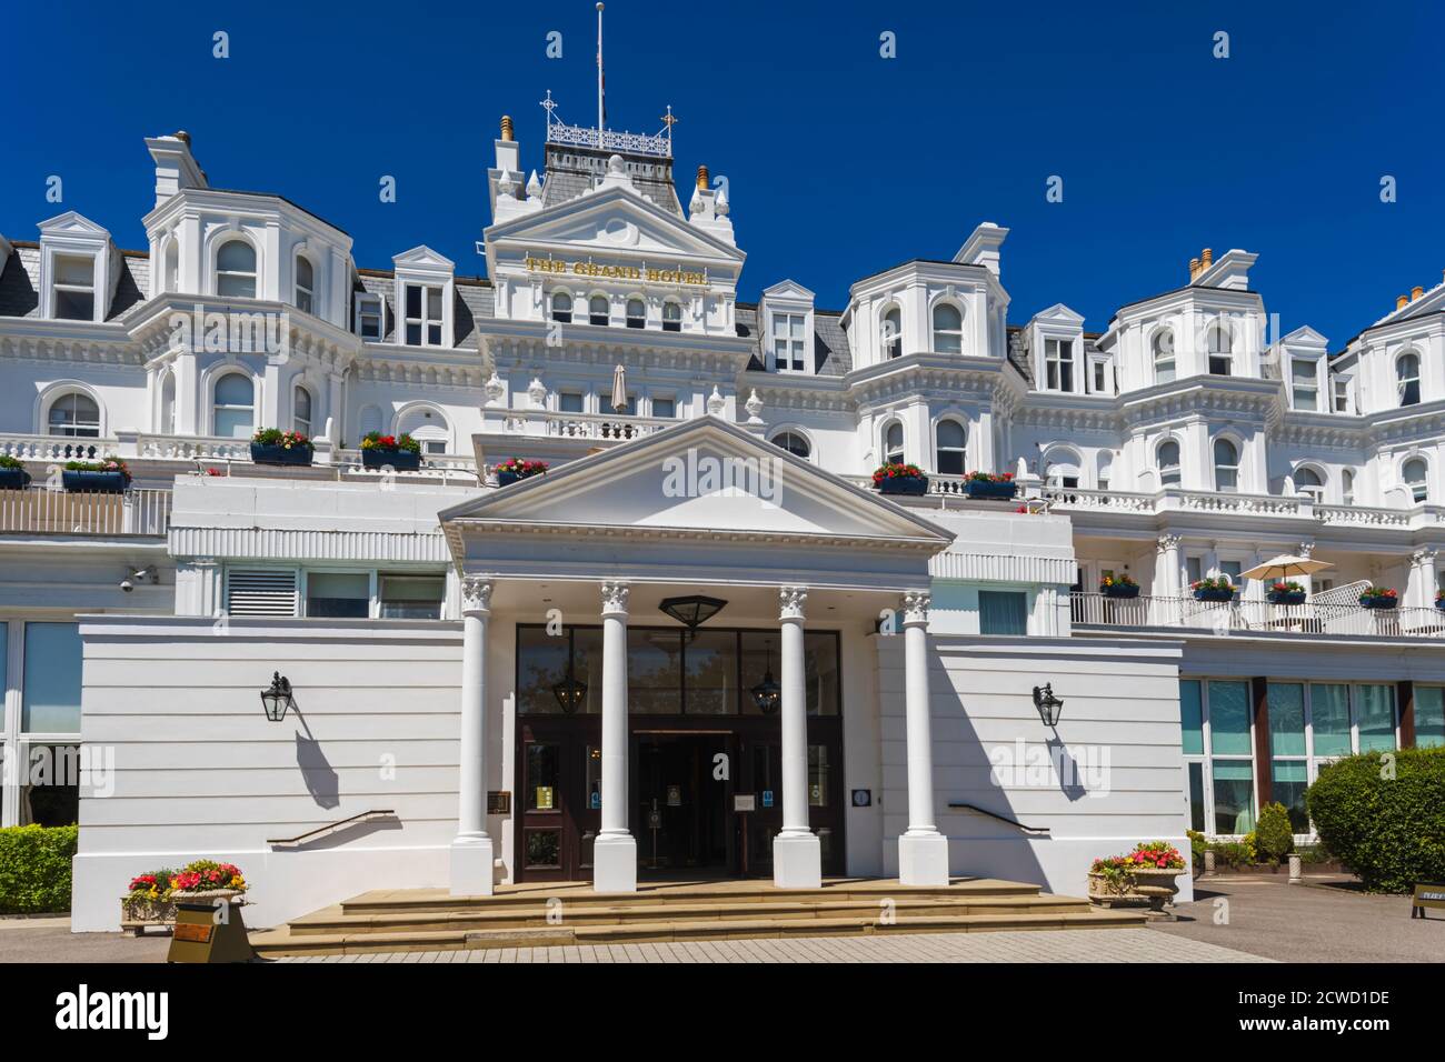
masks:
<svg viewBox="0 0 1445 1062"><path fill-rule="evenodd" d="M718 418L686 420L439 514L465 574L926 590L954 535Z"/></svg>

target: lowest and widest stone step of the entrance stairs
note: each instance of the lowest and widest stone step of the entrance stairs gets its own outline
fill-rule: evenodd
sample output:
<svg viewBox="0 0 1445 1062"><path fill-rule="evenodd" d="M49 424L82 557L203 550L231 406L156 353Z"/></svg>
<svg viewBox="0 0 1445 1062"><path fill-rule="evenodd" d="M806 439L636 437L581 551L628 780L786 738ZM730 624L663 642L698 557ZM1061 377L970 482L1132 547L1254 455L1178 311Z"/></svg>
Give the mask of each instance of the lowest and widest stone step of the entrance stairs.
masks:
<svg viewBox="0 0 1445 1062"><path fill-rule="evenodd" d="M486 948L546 948L659 941L777 939L789 936L887 936L896 933L998 932L1053 929L1118 929L1143 926L1143 913L1081 910L1068 913L919 915L880 925L876 915L808 919L705 919L626 925L572 925L514 929L447 929L431 932L303 933L290 928L251 933L263 958L288 955L360 955Z"/></svg>

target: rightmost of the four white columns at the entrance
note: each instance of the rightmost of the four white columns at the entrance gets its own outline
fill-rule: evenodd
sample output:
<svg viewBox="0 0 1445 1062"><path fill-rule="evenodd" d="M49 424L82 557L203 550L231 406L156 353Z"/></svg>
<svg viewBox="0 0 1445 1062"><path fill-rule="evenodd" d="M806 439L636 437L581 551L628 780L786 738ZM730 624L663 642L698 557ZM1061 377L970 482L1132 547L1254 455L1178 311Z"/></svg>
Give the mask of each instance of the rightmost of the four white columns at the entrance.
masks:
<svg viewBox="0 0 1445 1062"><path fill-rule="evenodd" d="M907 832L899 838L899 884L946 886L948 838L933 825L933 737L928 689L929 595L903 595L907 738Z"/></svg>

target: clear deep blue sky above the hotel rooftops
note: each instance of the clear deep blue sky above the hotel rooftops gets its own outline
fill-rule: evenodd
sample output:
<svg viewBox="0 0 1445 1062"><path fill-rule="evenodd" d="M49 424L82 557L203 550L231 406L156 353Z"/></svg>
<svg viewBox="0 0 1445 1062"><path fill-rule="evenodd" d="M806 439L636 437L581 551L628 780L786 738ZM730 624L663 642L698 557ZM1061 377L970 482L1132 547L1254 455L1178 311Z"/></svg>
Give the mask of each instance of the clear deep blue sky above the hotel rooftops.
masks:
<svg viewBox="0 0 1445 1062"><path fill-rule="evenodd" d="M1201 247L1244 247L1283 329L1338 348L1445 267L1442 10L611 0L608 118L655 131L672 104L683 188L699 162L727 175L744 299L792 277L841 308L858 277L948 259L988 220L1013 230L1014 324L1065 302L1101 329L1182 285ZM568 121L595 114L585 0L51 3L7 22L12 238L78 210L143 247L142 137L186 129L212 184L308 207L363 266L426 243L477 273L499 116L539 168L545 90ZM215 30L231 58L212 58ZM394 204L377 197L387 173ZM64 204L45 201L49 175ZM1062 202L1045 199L1052 175ZM1384 175L1397 202L1380 201Z"/></svg>

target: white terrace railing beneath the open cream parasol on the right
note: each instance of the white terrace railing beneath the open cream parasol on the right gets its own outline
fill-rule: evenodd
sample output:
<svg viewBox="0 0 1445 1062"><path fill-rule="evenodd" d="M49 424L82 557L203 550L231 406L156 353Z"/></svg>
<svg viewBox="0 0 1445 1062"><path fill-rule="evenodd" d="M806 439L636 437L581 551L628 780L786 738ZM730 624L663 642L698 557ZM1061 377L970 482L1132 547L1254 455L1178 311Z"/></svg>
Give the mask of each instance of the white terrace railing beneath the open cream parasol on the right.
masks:
<svg viewBox="0 0 1445 1062"><path fill-rule="evenodd" d="M1194 597L1117 598L1104 594L1069 595L1075 626L1168 627L1241 634L1367 634L1376 637L1445 639L1445 613L1438 608L1361 608L1358 604L1276 605L1263 600L1198 601Z"/></svg>

